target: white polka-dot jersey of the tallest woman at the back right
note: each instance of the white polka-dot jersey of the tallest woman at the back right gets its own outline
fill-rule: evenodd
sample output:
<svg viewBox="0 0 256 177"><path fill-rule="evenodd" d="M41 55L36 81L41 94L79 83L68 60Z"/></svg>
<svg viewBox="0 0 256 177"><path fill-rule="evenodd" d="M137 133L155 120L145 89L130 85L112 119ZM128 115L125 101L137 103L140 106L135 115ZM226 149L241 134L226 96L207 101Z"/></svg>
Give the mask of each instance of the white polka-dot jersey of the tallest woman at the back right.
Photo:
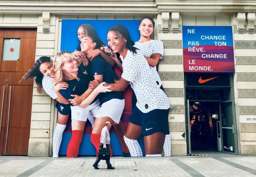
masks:
<svg viewBox="0 0 256 177"><path fill-rule="evenodd" d="M163 45L163 42L160 40L150 40L143 43L135 42L134 47L140 49L137 51L141 53L143 56L151 57L152 54L160 54L161 55L160 59L163 58L164 45ZM156 70L156 66L150 67L150 70L155 80L158 81L158 86L161 87L162 82Z"/></svg>

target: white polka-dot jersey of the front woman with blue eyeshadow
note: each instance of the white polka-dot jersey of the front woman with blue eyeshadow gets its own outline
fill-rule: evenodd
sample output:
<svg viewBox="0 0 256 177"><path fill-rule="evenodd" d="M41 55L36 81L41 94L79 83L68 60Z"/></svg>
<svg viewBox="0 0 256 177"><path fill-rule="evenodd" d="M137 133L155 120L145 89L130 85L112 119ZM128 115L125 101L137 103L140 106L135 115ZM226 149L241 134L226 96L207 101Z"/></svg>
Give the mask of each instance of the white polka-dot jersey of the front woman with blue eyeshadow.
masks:
<svg viewBox="0 0 256 177"><path fill-rule="evenodd" d="M130 82L136 97L136 106L147 113L154 109L168 109L170 107L166 94L159 88L148 62L141 54L132 54L128 50L123 61L122 78Z"/></svg>

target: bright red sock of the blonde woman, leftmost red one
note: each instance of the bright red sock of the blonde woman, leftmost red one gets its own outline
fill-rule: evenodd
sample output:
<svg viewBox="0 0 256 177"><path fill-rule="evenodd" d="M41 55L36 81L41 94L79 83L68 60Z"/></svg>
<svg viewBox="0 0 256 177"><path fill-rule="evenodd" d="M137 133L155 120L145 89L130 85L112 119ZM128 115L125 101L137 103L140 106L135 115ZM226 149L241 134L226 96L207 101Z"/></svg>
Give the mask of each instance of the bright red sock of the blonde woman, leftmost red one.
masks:
<svg viewBox="0 0 256 177"><path fill-rule="evenodd" d="M77 157L79 152L79 146L83 139L82 130L72 130L72 136L68 143L67 157Z"/></svg>

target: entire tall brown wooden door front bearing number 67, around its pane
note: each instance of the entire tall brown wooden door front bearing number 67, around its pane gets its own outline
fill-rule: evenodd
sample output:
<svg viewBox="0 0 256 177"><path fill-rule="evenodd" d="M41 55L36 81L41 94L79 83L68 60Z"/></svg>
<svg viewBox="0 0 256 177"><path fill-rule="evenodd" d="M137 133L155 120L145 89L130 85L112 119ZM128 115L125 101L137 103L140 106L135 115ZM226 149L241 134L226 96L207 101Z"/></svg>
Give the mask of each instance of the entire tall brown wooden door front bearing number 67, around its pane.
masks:
<svg viewBox="0 0 256 177"><path fill-rule="evenodd" d="M0 155L27 155L33 80L19 83L33 66L36 29L0 29ZM3 43L20 40L19 59L3 60Z"/></svg>

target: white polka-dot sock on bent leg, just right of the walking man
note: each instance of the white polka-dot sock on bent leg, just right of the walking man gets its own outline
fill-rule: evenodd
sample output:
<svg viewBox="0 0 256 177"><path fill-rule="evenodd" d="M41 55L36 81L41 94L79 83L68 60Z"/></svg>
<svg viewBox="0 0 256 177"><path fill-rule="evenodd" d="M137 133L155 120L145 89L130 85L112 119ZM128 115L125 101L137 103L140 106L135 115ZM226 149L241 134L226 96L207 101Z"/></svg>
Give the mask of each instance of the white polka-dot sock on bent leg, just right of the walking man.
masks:
<svg viewBox="0 0 256 177"><path fill-rule="evenodd" d="M137 140L129 139L124 136L124 142L127 145L131 157L142 157L142 150Z"/></svg>

